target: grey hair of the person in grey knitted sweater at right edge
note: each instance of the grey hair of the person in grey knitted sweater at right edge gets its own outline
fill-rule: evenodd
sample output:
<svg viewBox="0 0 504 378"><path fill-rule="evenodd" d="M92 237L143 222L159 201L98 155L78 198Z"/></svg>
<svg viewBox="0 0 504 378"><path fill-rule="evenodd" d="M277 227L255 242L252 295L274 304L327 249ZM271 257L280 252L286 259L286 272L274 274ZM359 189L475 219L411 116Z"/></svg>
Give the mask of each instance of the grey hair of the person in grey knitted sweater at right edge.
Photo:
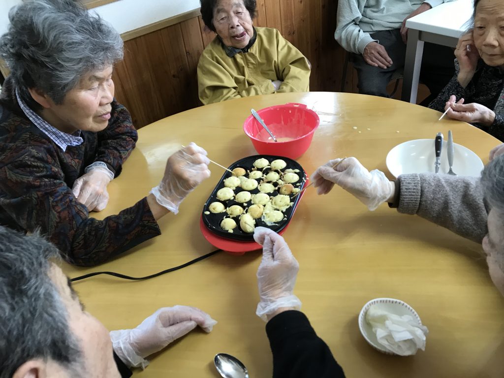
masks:
<svg viewBox="0 0 504 378"><path fill-rule="evenodd" d="M483 195L491 208L504 214L504 155L489 162L481 173Z"/></svg>

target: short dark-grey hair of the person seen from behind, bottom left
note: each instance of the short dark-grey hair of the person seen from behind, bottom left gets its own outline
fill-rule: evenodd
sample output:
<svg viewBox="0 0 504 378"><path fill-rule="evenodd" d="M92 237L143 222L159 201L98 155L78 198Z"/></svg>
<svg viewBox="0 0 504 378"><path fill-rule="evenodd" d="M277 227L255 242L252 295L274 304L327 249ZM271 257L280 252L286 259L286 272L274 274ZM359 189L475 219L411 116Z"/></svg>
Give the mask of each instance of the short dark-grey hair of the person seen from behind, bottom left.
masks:
<svg viewBox="0 0 504 378"><path fill-rule="evenodd" d="M34 358L80 370L81 348L48 276L48 259L58 256L42 237L0 226L0 378L12 377Z"/></svg>

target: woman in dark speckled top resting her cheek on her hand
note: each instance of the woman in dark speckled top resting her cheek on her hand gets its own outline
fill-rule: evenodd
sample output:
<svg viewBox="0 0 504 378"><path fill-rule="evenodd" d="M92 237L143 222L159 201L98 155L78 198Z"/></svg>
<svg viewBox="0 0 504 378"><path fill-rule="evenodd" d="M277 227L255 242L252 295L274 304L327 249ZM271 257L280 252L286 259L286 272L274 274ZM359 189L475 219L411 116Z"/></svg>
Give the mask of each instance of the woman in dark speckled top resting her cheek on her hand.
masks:
<svg viewBox="0 0 504 378"><path fill-rule="evenodd" d="M504 141L504 3L474 0L472 28L455 49L455 76L429 104Z"/></svg>

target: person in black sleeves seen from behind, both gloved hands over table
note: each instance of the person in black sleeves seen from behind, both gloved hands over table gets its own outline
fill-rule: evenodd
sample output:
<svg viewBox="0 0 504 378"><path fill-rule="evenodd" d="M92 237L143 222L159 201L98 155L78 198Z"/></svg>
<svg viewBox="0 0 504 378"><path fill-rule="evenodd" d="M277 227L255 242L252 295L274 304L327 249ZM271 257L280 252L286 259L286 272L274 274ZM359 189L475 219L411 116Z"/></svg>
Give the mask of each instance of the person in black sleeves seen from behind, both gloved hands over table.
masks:
<svg viewBox="0 0 504 378"><path fill-rule="evenodd" d="M257 227L263 245L257 314L267 321L273 376L344 378L293 294L299 266L285 240ZM216 322L194 307L157 310L132 330L110 333L83 305L53 259L57 250L37 235L0 227L0 378L129 377L131 367L196 326ZM57 260L57 259L56 259Z"/></svg>

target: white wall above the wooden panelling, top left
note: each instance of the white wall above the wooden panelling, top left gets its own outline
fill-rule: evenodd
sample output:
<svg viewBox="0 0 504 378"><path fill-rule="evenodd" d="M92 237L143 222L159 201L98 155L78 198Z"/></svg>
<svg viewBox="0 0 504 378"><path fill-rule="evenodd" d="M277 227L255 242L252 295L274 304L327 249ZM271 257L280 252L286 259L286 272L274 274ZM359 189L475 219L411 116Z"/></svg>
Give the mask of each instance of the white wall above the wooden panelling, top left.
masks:
<svg viewBox="0 0 504 378"><path fill-rule="evenodd" d="M21 0L0 0L0 34L7 31L9 9L20 3ZM119 0L92 11L124 33L198 8L199 0Z"/></svg>

